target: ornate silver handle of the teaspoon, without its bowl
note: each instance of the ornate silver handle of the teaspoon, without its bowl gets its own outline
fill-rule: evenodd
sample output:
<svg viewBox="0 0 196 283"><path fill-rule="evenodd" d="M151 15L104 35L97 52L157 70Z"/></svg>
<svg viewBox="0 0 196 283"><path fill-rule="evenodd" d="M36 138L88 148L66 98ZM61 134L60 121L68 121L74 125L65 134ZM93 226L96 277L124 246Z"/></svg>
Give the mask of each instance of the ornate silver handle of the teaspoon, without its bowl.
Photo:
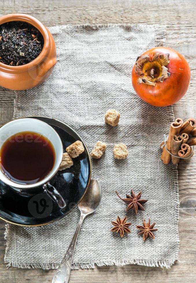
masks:
<svg viewBox="0 0 196 283"><path fill-rule="evenodd" d="M69 276L70 276L70 272L71 272L71 263L73 260L73 253L75 250L75 244L77 241L77 237L80 231L80 228L82 226L82 222L84 220L85 215L81 215L80 219L79 219L79 223L77 224L77 228L75 230L75 233L73 235L73 238L71 240L71 243L67 249L67 252L62 260L62 262L60 263L58 269L55 272L55 275L52 279L52 283L68 283L69 281Z"/></svg>

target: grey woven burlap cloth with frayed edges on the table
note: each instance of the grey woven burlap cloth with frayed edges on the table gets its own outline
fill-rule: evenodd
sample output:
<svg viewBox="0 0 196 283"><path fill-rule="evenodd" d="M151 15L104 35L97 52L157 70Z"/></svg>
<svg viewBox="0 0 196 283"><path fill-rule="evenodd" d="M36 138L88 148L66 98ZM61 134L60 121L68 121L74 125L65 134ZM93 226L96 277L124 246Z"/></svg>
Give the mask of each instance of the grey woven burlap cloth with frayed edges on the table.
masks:
<svg viewBox="0 0 196 283"><path fill-rule="evenodd" d="M131 84L138 55L158 44L164 30L145 25L84 25L50 28L57 46L57 65L39 87L17 92L14 118L44 115L70 125L91 151L97 140L107 143L103 158L93 160L93 178L101 183L99 209L86 218L77 241L73 268L129 263L170 267L178 258L177 167L163 165L159 145L173 121L172 107L157 108L140 100ZM121 113L120 123L104 123L108 109ZM114 144L127 145L129 156L114 160ZM131 188L143 191L145 211L125 212L115 194L125 197ZM117 216L131 222L123 239L110 232ZM156 221L155 239L143 241L136 225ZM7 224L8 266L56 268L70 243L78 209L68 217L42 227Z"/></svg>

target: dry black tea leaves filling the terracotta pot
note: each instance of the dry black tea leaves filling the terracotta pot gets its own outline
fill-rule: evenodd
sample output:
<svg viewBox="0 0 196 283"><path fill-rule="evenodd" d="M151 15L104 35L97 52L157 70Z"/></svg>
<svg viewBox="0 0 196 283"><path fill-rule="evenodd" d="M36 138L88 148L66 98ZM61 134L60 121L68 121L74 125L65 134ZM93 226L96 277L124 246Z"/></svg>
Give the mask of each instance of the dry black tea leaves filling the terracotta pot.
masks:
<svg viewBox="0 0 196 283"><path fill-rule="evenodd" d="M21 66L41 53L44 39L34 26L19 21L0 25L0 62Z"/></svg>

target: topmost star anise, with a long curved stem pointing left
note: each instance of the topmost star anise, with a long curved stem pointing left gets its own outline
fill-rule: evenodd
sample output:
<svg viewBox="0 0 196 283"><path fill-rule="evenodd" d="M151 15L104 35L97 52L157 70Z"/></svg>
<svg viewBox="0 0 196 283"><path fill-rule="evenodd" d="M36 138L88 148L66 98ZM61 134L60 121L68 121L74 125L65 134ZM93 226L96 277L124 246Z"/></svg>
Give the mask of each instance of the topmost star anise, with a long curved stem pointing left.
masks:
<svg viewBox="0 0 196 283"><path fill-rule="evenodd" d="M117 193L117 191L116 191ZM148 200L142 200L140 199L141 198L141 195L142 195L142 192L139 192L137 194L137 196L135 195L134 191L131 190L131 196L130 195L127 195L127 198L121 198L119 196L119 194L117 193L117 196L123 200L123 202L127 203L128 206L126 208L126 211L127 210L130 210L131 208L133 208L133 211L135 214L138 213L138 209L139 210L142 210L142 211L145 211L145 209L143 208L142 204L146 203Z"/></svg>

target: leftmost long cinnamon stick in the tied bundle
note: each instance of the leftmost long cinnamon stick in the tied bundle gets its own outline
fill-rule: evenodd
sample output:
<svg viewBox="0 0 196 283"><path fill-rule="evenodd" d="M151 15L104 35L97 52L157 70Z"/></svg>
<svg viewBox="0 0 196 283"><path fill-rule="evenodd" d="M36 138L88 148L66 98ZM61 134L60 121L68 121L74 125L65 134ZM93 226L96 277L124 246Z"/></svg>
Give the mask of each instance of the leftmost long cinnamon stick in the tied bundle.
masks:
<svg viewBox="0 0 196 283"><path fill-rule="evenodd" d="M167 149L171 151L171 140L173 139L174 135L178 135L182 127L182 123L172 122L169 131L169 137L167 139ZM169 164L171 161L171 154L167 152L165 146L163 148L163 152L161 154L161 160L164 164Z"/></svg>

